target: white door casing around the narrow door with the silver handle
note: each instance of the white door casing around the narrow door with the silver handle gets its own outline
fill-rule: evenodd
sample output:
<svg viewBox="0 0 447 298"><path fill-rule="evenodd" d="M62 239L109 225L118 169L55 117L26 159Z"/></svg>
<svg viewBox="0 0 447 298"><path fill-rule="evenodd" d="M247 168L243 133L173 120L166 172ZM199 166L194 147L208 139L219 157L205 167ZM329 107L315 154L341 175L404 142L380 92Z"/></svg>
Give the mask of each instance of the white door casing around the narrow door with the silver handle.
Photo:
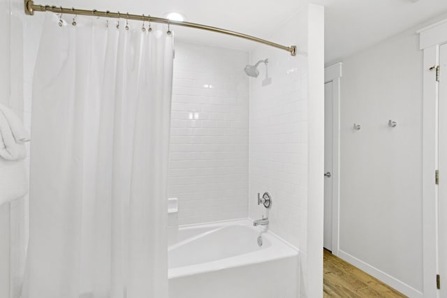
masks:
<svg viewBox="0 0 447 298"><path fill-rule="evenodd" d="M339 254L340 85L343 64L325 68L324 82L332 82L332 254ZM323 174L323 173L321 173Z"/></svg>

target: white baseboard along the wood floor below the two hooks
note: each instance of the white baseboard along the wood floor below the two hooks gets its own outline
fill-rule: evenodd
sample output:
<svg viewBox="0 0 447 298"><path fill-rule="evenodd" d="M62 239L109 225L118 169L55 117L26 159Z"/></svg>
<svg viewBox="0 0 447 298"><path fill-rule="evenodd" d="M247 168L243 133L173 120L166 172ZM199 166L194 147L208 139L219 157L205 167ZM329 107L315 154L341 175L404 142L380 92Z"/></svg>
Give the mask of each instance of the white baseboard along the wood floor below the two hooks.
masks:
<svg viewBox="0 0 447 298"><path fill-rule="evenodd" d="M422 292L411 288L411 286L407 285L406 283L402 283L402 281L398 280L397 278L394 278L393 276L390 276L389 274L386 274L385 272L372 267L371 265L363 262L362 260L359 260L356 257L353 257L352 255L342 251L341 249L339 249L338 251L338 257L342 260L345 260L346 262L349 262L351 265L357 267L358 269L365 271L367 274L374 276L375 278L379 279L379 281L386 283L391 288L394 288L395 290L410 298L423 298Z"/></svg>

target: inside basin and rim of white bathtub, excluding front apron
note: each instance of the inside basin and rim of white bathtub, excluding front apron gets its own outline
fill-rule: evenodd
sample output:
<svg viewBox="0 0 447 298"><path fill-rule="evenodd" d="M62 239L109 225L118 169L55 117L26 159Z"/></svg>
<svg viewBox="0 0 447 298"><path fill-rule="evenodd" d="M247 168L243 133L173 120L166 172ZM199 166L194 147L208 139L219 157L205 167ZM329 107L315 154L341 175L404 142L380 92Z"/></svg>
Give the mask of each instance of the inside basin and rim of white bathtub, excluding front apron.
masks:
<svg viewBox="0 0 447 298"><path fill-rule="evenodd" d="M180 227L168 248L169 276L240 267L298 255L298 249L251 220ZM258 245L258 237L263 243Z"/></svg>

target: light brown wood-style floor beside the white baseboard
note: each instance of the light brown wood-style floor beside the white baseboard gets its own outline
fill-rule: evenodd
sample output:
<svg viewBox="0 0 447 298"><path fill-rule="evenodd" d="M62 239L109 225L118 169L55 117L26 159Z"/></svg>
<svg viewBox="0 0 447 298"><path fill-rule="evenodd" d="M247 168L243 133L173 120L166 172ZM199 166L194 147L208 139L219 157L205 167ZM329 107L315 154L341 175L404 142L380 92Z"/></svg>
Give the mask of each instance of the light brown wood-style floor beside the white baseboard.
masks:
<svg viewBox="0 0 447 298"><path fill-rule="evenodd" d="M323 297L406 297L364 271L324 250Z"/></svg>

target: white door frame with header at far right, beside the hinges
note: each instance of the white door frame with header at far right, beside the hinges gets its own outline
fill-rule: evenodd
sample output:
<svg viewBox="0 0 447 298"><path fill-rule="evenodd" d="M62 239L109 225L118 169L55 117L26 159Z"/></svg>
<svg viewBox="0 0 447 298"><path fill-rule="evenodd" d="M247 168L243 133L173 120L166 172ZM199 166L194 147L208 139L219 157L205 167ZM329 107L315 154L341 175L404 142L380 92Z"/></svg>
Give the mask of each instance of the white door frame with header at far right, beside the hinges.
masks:
<svg viewBox="0 0 447 298"><path fill-rule="evenodd" d="M434 171L438 169L439 82L436 68L430 68L439 66L440 46L447 43L447 20L417 33L419 50L423 50L423 295L439 297L436 285L436 274L439 273L438 195L434 182Z"/></svg>

